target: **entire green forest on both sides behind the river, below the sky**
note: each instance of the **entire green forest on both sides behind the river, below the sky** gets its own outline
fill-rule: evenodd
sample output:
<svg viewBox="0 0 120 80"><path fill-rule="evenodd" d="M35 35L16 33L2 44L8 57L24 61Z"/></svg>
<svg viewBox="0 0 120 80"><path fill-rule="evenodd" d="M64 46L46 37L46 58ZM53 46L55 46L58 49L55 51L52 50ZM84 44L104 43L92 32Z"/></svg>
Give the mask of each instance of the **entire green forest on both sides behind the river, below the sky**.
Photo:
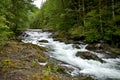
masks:
<svg viewBox="0 0 120 80"><path fill-rule="evenodd" d="M22 30L47 28L71 39L120 47L120 1L47 0L40 9L32 2L0 1L0 44Z"/></svg>

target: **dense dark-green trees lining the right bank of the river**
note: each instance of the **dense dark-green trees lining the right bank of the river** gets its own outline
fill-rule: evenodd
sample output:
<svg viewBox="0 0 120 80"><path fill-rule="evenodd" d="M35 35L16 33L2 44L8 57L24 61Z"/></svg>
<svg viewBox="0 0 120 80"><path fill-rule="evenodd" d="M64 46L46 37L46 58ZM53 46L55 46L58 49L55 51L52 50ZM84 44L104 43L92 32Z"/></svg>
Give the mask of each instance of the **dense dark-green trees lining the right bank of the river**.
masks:
<svg viewBox="0 0 120 80"><path fill-rule="evenodd" d="M118 0L47 0L33 24L68 33L73 38L84 36L86 42L104 40L118 47L119 6Z"/></svg>

